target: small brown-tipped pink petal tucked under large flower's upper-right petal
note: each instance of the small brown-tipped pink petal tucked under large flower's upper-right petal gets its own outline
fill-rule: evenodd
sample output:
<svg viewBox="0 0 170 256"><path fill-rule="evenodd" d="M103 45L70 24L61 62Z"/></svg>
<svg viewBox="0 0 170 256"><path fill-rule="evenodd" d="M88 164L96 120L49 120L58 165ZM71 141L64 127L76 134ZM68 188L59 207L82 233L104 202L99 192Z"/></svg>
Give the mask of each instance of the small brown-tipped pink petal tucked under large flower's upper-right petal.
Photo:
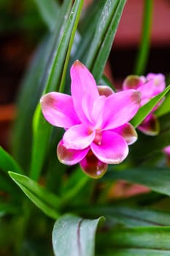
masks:
<svg viewBox="0 0 170 256"><path fill-rule="evenodd" d="M128 145L133 144L138 137L136 130L130 123L123 124L123 126L113 129L112 132L117 132L121 135Z"/></svg>

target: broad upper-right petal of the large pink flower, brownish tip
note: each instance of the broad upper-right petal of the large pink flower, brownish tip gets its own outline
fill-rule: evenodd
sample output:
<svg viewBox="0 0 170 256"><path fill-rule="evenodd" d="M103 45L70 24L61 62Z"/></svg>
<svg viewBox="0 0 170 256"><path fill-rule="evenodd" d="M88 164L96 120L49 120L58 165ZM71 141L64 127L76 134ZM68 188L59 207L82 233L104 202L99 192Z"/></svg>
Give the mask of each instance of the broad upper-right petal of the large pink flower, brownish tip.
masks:
<svg viewBox="0 0 170 256"><path fill-rule="evenodd" d="M103 129L114 129L131 120L139 110L141 94L136 90L120 91L106 99Z"/></svg>

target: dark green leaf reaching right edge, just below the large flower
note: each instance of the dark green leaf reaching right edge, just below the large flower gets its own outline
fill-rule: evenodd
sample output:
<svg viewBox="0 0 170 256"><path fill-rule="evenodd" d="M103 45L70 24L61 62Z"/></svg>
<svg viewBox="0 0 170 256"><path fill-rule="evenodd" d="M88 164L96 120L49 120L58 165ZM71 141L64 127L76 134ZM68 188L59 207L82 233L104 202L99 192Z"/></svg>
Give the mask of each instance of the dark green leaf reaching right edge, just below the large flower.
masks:
<svg viewBox="0 0 170 256"><path fill-rule="evenodd" d="M170 196L170 169L161 167L138 167L128 170L112 170L104 176L103 180L116 181L125 180L136 184L142 184L155 192Z"/></svg>

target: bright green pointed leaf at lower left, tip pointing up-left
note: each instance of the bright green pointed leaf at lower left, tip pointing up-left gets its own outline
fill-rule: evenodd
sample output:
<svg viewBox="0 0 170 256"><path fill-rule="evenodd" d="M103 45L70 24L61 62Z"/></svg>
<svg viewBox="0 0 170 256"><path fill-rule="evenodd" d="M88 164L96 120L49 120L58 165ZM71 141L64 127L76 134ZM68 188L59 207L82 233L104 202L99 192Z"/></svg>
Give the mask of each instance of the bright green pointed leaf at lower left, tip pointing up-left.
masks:
<svg viewBox="0 0 170 256"><path fill-rule="evenodd" d="M41 187L36 181L31 180L31 178L12 172L9 172L9 176L47 216L53 219L58 218L58 207L61 201L56 195Z"/></svg>

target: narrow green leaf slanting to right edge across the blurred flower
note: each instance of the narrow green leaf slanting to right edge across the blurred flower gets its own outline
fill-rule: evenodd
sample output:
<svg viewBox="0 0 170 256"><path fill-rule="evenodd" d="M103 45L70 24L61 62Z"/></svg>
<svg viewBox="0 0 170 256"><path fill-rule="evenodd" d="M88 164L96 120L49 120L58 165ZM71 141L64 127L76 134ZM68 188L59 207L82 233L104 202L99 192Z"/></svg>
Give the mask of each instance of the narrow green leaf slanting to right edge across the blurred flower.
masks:
<svg viewBox="0 0 170 256"><path fill-rule="evenodd" d="M151 112L152 108L154 108L155 105L157 105L158 102L160 102L160 100L163 99L163 97L168 93L169 89L170 86L166 87L166 89L161 92L161 94L156 95L150 99L150 102L147 102L147 104L143 105L142 108L140 108L136 113L136 116L134 116L134 118L131 120L131 124L133 124L134 127L138 127L144 118L146 118L147 115Z"/></svg>

